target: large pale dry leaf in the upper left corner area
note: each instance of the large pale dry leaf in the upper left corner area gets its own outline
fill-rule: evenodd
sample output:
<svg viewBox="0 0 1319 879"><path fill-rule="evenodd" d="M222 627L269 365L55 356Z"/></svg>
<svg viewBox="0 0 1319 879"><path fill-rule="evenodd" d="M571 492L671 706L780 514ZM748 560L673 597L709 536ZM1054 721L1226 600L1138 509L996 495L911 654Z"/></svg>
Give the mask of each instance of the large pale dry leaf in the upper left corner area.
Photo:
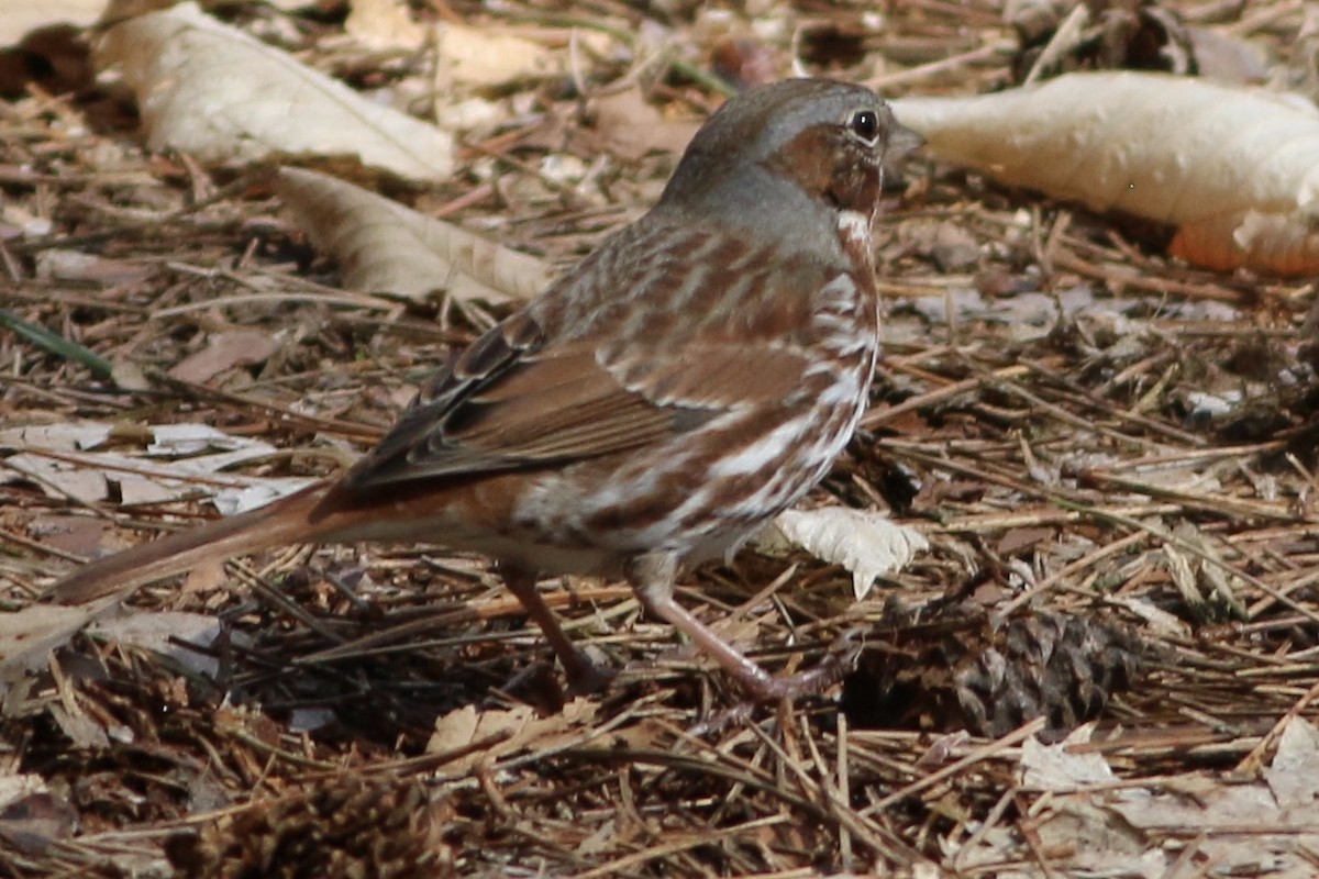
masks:
<svg viewBox="0 0 1319 879"><path fill-rule="evenodd" d="M204 162L356 156L402 177L447 178L454 138L377 104L194 3L125 21L98 46L137 94L152 149Z"/></svg>

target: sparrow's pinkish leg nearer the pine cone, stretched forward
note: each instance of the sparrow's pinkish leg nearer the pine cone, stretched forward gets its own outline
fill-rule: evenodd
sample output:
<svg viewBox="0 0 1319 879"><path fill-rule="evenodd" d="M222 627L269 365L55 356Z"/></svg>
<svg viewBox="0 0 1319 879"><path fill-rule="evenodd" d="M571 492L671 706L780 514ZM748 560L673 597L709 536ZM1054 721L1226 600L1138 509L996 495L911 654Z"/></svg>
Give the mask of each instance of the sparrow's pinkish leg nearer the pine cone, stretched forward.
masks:
<svg viewBox="0 0 1319 879"><path fill-rule="evenodd" d="M831 662L799 675L780 677L770 675L678 604L673 597L677 575L678 560L671 553L642 555L628 565L628 581L641 605L691 638L692 643L712 656L752 698L772 702L809 696L838 683L845 672L845 663Z"/></svg>

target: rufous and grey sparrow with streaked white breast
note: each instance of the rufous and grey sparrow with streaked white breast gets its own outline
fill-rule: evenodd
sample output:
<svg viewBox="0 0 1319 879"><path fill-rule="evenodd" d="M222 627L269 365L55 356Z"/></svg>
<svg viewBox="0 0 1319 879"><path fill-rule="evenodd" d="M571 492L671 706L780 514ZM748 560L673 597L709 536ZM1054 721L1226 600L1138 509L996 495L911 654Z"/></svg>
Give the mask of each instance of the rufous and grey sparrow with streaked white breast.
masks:
<svg viewBox="0 0 1319 879"><path fill-rule="evenodd" d="M752 698L773 675L679 604L827 474L880 352L872 233L886 167L921 144L863 86L787 79L723 104L656 204L450 353L342 477L91 561L82 604L286 544L435 543L491 557L570 693L611 677L563 631L546 575L623 577Z"/></svg>

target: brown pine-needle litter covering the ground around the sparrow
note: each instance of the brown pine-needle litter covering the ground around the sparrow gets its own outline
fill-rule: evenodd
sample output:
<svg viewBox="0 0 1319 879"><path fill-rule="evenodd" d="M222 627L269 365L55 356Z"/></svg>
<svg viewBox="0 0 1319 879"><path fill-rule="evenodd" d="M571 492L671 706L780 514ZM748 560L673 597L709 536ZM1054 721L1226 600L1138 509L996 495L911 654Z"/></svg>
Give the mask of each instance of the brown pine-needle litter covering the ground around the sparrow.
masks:
<svg viewBox="0 0 1319 879"><path fill-rule="evenodd" d="M1163 5L1316 94L1303 4ZM644 80L682 119L723 99L702 74L783 72L794 51L886 94L987 91L1031 63L995 3L437 7L509 26L670 29L675 47L645 59ZM347 53L334 1L214 12L360 88L415 74ZM142 382L125 390L123 373L3 332L0 427L104 422L140 449L135 426L204 423L280 449L248 474L338 472L506 307L327 299L338 269L288 219L269 169L148 152L131 95L91 79L86 40L30 50L18 74L0 66L0 303ZM670 154L619 158L607 137L566 133L599 123L579 88L633 65L483 94L504 121L464 145L470 170L380 188L570 262L671 169ZM543 171L565 157L592 173L565 184ZM49 233L24 232L36 219ZM565 704L485 560L269 553L133 597L142 614L215 622L204 648L82 633L21 685L5 680L0 783L40 789L4 800L0 875L1072 875L1057 865L1082 843L1042 833L1054 793L1021 772L1028 745L1095 721L1070 752L1107 759L1104 789L1257 780L1287 721L1319 720L1315 285L1191 269L1162 256L1165 239L922 159L894 182L876 241L888 315L872 411L810 502L888 510L931 548L860 602L847 572L805 553L745 551L681 590L776 669L860 630L845 685L747 710L625 585L566 579L551 604L623 672ZM69 252L100 261L74 271ZM169 374L239 329L278 345L204 381ZM92 551L214 515L3 478L17 451L0 448L5 611ZM1145 828L1138 845L1200 875L1206 839L1250 833Z"/></svg>

